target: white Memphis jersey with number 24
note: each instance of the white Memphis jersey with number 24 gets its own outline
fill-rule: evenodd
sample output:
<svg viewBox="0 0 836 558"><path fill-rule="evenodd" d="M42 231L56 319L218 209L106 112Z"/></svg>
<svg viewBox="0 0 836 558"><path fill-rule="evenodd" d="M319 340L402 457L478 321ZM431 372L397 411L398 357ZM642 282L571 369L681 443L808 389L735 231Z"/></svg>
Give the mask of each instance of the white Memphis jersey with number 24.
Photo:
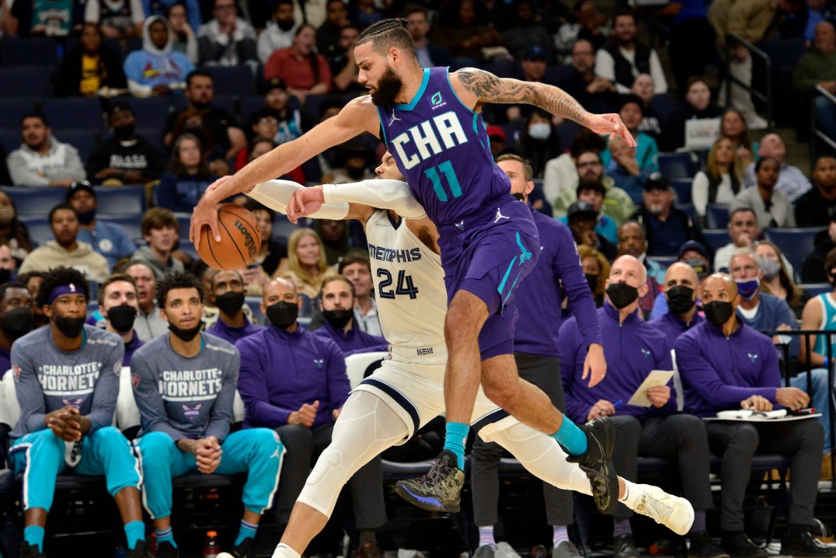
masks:
<svg viewBox="0 0 836 558"><path fill-rule="evenodd" d="M395 228L386 210L373 213L365 231L383 336L393 346L414 349L415 356L445 347L447 291L441 256L404 219Z"/></svg>

